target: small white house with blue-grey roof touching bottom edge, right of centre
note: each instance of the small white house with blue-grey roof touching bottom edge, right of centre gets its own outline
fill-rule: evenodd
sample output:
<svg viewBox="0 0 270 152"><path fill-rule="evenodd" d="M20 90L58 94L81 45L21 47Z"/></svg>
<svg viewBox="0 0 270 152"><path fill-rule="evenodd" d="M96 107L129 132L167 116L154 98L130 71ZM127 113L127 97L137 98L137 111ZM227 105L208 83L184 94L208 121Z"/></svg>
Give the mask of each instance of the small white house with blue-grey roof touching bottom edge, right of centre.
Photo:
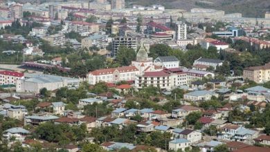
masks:
<svg viewBox="0 0 270 152"><path fill-rule="evenodd" d="M190 147L190 141L183 138L174 139L169 142L169 149L173 151L178 151L179 149L185 151L188 147Z"/></svg>

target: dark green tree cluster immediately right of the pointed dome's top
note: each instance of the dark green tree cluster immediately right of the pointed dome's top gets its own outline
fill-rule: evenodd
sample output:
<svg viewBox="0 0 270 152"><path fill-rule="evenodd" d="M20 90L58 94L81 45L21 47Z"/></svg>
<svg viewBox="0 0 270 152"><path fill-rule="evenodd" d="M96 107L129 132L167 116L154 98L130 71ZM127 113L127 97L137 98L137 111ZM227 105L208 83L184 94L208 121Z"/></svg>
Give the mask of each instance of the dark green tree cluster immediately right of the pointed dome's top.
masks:
<svg viewBox="0 0 270 152"><path fill-rule="evenodd" d="M170 46L165 44L154 44L150 46L150 57L156 59L156 57L168 56L168 53L172 50Z"/></svg>

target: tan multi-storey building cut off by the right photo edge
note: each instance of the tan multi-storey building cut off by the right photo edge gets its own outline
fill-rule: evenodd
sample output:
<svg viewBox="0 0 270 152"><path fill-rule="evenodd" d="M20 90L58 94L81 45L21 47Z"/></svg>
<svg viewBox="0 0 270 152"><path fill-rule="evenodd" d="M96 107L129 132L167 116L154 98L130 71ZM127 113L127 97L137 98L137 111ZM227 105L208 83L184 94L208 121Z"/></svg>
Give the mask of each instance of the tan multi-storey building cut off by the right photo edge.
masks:
<svg viewBox="0 0 270 152"><path fill-rule="evenodd" d="M264 83L270 81L270 63L264 66L251 66L243 71L244 79L249 79L256 83Z"/></svg>

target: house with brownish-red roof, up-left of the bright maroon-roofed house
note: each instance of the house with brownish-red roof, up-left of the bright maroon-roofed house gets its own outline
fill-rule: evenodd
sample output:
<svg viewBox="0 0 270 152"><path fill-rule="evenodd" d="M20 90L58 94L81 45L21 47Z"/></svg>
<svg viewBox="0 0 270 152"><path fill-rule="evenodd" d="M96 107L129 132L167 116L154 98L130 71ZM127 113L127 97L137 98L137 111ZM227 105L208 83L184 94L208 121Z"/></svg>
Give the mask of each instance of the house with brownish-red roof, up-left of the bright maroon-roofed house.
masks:
<svg viewBox="0 0 270 152"><path fill-rule="evenodd" d="M198 108L190 105L183 105L180 108L172 110L172 117L185 118L188 114L193 112L199 112L202 108Z"/></svg>

